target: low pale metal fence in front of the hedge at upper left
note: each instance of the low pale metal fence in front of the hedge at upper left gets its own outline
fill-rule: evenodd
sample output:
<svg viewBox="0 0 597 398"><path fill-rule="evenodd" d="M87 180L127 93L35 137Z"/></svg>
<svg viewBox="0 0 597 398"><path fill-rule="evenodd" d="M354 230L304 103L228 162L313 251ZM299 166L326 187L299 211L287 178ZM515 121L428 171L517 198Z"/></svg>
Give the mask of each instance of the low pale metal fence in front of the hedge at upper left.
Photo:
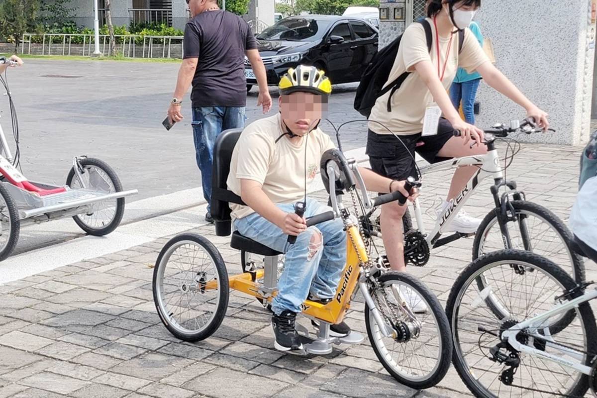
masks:
<svg viewBox="0 0 597 398"><path fill-rule="evenodd" d="M42 37L41 44L32 39ZM110 36L100 35L100 51L104 55L128 58L182 58L183 36L115 35L116 53L111 54ZM41 47L41 48L40 48ZM23 35L23 53L41 55L91 55L95 50L94 35L44 33Z"/></svg>

